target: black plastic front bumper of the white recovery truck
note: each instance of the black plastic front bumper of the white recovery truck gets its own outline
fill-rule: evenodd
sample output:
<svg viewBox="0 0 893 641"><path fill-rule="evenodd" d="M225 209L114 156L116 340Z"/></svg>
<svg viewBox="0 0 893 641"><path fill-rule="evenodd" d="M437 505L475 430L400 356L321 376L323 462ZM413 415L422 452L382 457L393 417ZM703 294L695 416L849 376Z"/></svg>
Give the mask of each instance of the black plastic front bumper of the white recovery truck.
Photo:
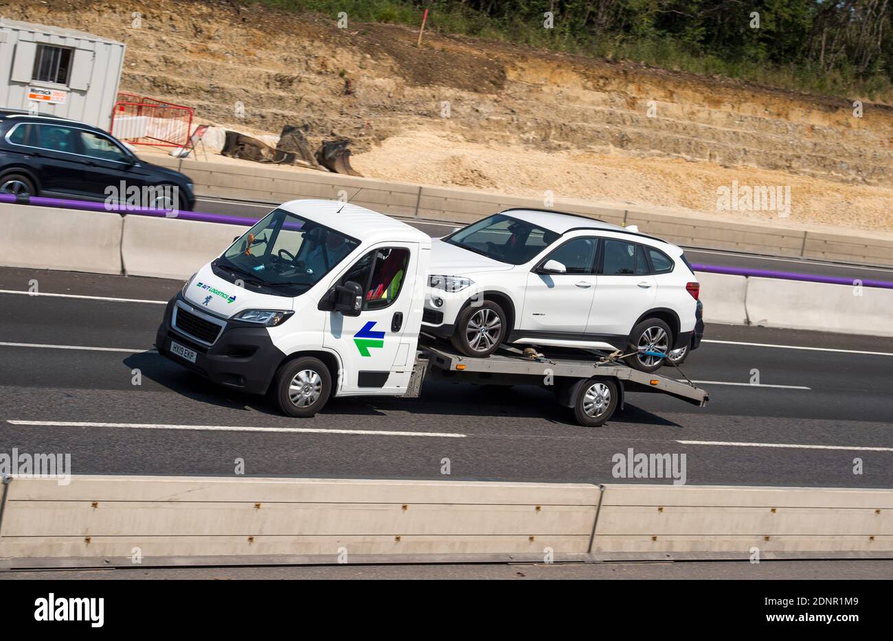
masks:
<svg viewBox="0 0 893 641"><path fill-rule="evenodd" d="M266 328L230 320L213 345L202 345L171 325L178 294L164 309L155 334L158 353L205 379L249 394L265 394L280 363L285 359ZM171 340L196 352L196 362L171 353Z"/></svg>

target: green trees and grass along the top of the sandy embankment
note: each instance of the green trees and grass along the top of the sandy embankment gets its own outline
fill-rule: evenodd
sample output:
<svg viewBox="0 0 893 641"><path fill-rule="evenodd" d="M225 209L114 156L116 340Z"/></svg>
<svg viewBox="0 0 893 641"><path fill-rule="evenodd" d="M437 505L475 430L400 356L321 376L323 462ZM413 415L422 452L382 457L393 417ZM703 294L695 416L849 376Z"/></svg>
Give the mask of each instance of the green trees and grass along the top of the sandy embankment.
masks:
<svg viewBox="0 0 893 641"><path fill-rule="evenodd" d="M413 26L427 7L440 33L893 102L890 0L254 1Z"/></svg>

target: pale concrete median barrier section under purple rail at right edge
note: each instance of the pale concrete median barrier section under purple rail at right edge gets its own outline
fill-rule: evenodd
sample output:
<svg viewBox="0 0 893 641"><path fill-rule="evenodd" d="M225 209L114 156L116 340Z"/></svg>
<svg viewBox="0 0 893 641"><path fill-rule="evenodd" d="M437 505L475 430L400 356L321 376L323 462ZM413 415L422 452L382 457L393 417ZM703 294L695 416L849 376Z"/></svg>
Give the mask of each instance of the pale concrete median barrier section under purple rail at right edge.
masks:
<svg viewBox="0 0 893 641"><path fill-rule="evenodd" d="M891 289L748 278L746 306L753 325L893 336Z"/></svg>

